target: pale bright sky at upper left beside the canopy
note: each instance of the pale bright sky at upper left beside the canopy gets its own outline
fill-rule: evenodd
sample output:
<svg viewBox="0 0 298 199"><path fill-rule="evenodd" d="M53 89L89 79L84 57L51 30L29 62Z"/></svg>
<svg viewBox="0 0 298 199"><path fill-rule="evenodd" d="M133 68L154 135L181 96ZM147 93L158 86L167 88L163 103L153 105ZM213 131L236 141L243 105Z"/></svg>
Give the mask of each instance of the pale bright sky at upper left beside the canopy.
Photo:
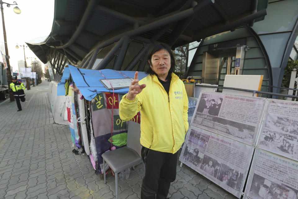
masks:
<svg viewBox="0 0 298 199"><path fill-rule="evenodd" d="M13 71L18 70L18 60L24 60L23 47L16 49L16 45L26 45L25 41L37 37L48 36L51 33L54 18L54 0L15 1L21 10L20 14L13 12L13 8L16 7L16 5L7 7L6 4L3 4L7 47L10 56L9 61L10 65L13 67ZM12 0L4 0L4 2L14 4ZM0 45L3 44L4 48L1 17L0 21ZM26 47L25 56L36 57L35 54ZM26 62L27 65L30 66L31 59L26 59ZM43 63L42 66L44 66Z"/></svg>

